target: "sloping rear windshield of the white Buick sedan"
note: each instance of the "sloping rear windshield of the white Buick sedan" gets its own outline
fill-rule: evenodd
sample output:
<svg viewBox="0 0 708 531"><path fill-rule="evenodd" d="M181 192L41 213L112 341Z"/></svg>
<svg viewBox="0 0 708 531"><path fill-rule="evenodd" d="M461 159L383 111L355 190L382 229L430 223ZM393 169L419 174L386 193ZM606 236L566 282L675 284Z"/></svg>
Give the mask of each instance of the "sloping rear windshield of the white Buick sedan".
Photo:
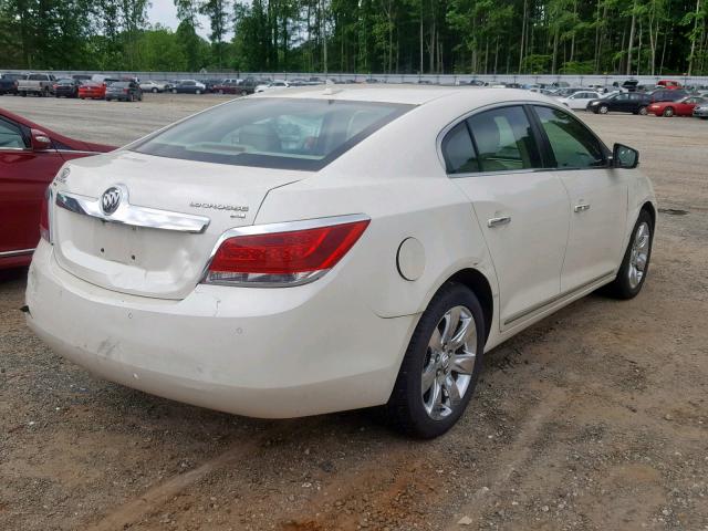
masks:
<svg viewBox="0 0 708 531"><path fill-rule="evenodd" d="M412 107L332 100L237 100L132 149L185 160L314 171Z"/></svg>

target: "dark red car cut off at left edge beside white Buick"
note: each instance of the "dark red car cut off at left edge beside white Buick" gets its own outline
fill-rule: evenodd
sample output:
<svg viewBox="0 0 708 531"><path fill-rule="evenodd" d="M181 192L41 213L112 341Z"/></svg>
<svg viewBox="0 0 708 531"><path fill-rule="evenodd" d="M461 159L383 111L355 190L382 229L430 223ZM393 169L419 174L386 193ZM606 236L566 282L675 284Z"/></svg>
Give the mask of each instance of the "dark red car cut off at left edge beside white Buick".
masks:
<svg viewBox="0 0 708 531"><path fill-rule="evenodd" d="M66 160L115 149L80 142L0 108L0 269L27 266L46 187Z"/></svg>

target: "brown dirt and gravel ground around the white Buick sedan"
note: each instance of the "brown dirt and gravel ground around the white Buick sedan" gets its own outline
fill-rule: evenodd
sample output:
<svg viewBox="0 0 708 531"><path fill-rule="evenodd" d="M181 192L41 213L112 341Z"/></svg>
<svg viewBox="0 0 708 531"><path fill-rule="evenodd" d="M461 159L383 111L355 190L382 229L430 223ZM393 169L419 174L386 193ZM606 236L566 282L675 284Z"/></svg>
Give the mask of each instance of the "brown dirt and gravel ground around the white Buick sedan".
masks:
<svg viewBox="0 0 708 531"><path fill-rule="evenodd" d="M222 100L0 107L122 144ZM27 329L27 272L1 273L0 529L708 530L708 122L583 118L641 149L665 209L644 291L489 352L434 441L371 412L256 420L97 379Z"/></svg>

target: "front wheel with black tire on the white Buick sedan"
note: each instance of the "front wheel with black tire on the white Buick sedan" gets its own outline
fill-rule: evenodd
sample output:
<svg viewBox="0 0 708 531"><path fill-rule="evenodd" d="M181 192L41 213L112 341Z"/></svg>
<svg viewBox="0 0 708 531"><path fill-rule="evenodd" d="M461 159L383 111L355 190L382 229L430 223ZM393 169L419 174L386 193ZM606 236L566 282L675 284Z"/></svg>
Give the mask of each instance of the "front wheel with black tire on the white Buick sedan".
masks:
<svg viewBox="0 0 708 531"><path fill-rule="evenodd" d="M617 277L607 284L607 292L617 299L634 299L642 291L649 271L654 222L646 210L639 212L624 253Z"/></svg>

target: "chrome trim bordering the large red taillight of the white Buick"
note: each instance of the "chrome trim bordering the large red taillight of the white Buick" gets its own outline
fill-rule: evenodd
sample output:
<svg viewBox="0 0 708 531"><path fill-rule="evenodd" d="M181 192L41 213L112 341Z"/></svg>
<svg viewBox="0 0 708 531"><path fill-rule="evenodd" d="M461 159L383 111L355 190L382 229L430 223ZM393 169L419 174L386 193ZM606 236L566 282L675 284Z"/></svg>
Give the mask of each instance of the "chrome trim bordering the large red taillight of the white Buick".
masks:
<svg viewBox="0 0 708 531"><path fill-rule="evenodd" d="M209 253L209 258L207 259L207 263L205 264L201 275L199 277L198 283L207 283L207 284L217 284L217 285L232 285L240 288L291 288L295 285L303 285L310 282L314 282L319 278L323 277L329 269L319 271L316 274L312 277L306 277L296 282L292 283L267 283L267 282L206 282L207 275L209 274L209 267L211 266L211 261L216 256L219 247L223 243L225 240L229 238L236 238L238 236L254 236L254 235L272 235L275 232L292 232L295 230L308 230L308 229L319 229L321 227L332 227L335 225L345 225L345 223L355 223L357 221L369 221L372 218L365 216L363 214L348 214L344 216L330 216L326 218L314 218L314 219L303 219L299 221L284 221L280 223L264 223L264 225L249 225L247 227L235 227L221 233L217 239L217 242L214 244L211 252Z"/></svg>

